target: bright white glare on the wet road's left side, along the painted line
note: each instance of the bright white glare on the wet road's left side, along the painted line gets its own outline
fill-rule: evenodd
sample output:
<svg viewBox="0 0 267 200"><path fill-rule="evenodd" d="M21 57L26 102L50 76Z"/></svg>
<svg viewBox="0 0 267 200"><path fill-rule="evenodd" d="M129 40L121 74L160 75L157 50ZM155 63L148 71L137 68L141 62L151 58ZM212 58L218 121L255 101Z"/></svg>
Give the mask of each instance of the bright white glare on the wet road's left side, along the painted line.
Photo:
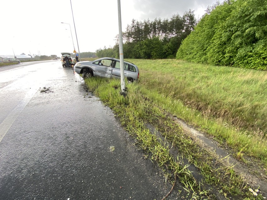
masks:
<svg viewBox="0 0 267 200"><path fill-rule="evenodd" d="M58 65L58 62L49 64ZM47 63L17 66L0 73L0 95L4 106L0 109L0 142L13 124L20 111L28 104L29 100L45 83L47 78L55 78L58 74L47 70Z"/></svg>

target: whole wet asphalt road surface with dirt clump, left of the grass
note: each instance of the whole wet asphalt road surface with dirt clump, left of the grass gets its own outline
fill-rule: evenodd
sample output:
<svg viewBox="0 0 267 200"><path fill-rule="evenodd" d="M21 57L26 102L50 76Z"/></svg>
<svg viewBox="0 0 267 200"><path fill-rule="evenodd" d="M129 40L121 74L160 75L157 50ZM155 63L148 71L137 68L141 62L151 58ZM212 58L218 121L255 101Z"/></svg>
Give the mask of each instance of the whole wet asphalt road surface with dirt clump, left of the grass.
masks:
<svg viewBox="0 0 267 200"><path fill-rule="evenodd" d="M0 200L162 199L170 191L60 61L1 67L0 100Z"/></svg>

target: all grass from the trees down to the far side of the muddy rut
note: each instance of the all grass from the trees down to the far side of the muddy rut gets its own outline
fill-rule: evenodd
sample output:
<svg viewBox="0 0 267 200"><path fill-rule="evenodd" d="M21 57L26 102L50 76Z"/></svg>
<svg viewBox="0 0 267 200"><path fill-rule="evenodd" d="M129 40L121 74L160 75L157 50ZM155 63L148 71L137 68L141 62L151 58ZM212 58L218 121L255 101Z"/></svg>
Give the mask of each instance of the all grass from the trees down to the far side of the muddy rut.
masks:
<svg viewBox="0 0 267 200"><path fill-rule="evenodd" d="M267 165L266 71L170 59L129 61L139 66L139 84L157 105L226 141L239 158L246 153Z"/></svg>

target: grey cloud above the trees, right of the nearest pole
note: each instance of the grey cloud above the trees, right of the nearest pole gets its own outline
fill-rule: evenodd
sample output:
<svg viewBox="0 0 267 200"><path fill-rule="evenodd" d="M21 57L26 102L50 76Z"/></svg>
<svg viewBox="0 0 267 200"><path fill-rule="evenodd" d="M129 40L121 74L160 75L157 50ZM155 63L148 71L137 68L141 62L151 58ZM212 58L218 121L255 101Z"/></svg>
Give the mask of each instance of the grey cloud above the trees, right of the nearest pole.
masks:
<svg viewBox="0 0 267 200"><path fill-rule="evenodd" d="M143 21L147 18L154 20L156 17L170 19L176 13L182 16L189 9L196 10L199 7L206 9L215 2L216 0L134 0L134 8L142 13L139 20Z"/></svg>

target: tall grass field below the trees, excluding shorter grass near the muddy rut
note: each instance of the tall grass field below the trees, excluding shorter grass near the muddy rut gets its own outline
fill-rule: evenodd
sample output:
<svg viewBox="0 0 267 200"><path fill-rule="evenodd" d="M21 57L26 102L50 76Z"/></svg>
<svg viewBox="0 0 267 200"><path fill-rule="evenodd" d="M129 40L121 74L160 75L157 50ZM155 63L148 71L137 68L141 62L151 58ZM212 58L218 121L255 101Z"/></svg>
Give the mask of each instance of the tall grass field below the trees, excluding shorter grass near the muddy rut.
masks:
<svg viewBox="0 0 267 200"><path fill-rule="evenodd" d="M265 137L267 72L190 63L131 59L149 90L200 110L203 116ZM249 134L248 134L249 135Z"/></svg>

